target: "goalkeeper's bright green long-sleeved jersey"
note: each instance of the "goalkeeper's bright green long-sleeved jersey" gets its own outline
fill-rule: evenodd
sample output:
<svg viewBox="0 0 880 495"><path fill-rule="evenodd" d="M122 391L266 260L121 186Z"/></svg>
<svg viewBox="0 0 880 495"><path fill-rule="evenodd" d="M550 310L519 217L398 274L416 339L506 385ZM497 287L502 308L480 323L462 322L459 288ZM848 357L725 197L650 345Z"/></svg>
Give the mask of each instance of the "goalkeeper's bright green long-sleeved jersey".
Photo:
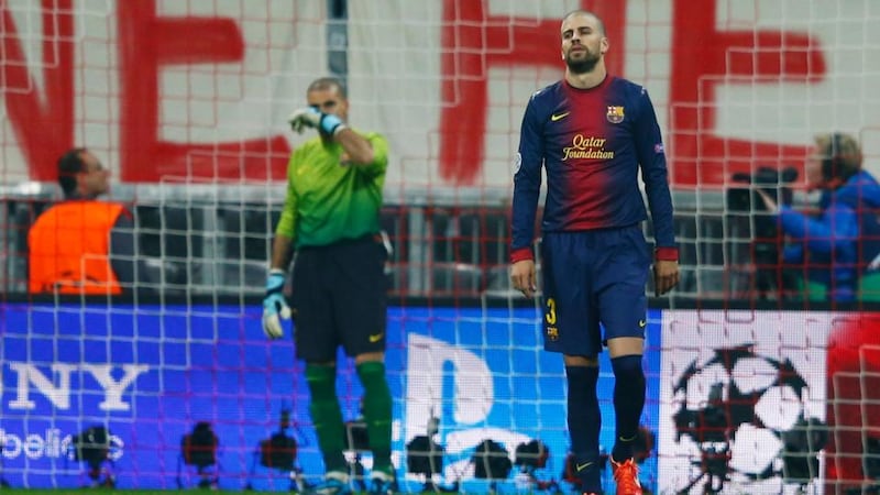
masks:
<svg viewBox="0 0 880 495"><path fill-rule="evenodd" d="M287 165L287 198L276 234L295 248L320 246L380 231L380 209L388 142L361 134L373 146L373 163L348 165L337 142L314 138L296 148Z"/></svg>

